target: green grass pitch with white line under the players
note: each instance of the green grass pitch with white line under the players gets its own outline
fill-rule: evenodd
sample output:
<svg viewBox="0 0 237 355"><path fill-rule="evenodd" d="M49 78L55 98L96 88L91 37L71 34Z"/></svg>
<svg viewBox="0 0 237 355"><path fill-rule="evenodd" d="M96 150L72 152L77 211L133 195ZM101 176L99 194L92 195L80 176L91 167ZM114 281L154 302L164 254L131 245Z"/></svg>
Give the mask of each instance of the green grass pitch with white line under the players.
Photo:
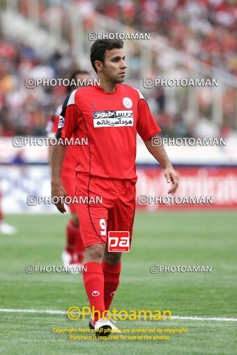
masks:
<svg viewBox="0 0 237 355"><path fill-rule="evenodd" d="M154 341L70 340L67 333L52 329L86 328L88 319L6 312L65 312L70 306L88 306L82 275L25 273L26 265L61 265L67 219L68 214L7 218L19 232L0 235L1 354L236 354L237 322L175 317L236 318L236 212L136 214L132 250L123 255L113 306L171 310L174 316L164 321L118 321L120 329L188 329L170 340ZM152 264L211 265L212 272L151 274Z"/></svg>

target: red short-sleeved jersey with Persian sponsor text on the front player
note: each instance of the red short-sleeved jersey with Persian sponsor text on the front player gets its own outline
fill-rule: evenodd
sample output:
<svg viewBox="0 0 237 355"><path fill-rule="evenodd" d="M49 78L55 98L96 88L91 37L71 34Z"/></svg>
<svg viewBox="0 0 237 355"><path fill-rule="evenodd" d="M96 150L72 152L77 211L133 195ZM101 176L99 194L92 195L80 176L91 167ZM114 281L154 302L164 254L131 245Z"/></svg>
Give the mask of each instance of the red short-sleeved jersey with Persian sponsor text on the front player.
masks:
<svg viewBox="0 0 237 355"><path fill-rule="evenodd" d="M136 135L143 140L160 132L160 127L139 90L117 84L114 93L100 86L72 91L59 117L56 137L87 140L77 144L75 171L99 178L137 179Z"/></svg>

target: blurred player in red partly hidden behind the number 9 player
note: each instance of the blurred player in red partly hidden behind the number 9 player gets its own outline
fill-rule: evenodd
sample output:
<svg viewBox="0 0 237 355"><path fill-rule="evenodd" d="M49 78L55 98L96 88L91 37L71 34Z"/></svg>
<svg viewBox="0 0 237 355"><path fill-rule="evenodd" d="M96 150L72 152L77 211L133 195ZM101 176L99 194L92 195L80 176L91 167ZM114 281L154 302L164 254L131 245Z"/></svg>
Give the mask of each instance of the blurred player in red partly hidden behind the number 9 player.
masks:
<svg viewBox="0 0 237 355"><path fill-rule="evenodd" d="M83 81L91 79L89 72L86 70L75 70L72 72L69 80L72 85L67 86L68 94ZM77 86L73 83L77 82ZM46 130L49 137L54 137L59 127L59 115L62 111L62 105L59 105L49 118ZM49 164L51 165L52 145L49 145ZM77 165L77 151L75 145L68 145L66 149L66 155L63 160L63 167L61 173L61 180L63 187L66 189L67 196L73 198L75 196L76 180L75 180L75 166ZM63 264L68 265L82 265L84 257L84 246L82 242L82 236L79 228L79 219L77 217L77 210L75 203L69 205L71 212L71 219L66 226L66 247L62 253Z"/></svg>

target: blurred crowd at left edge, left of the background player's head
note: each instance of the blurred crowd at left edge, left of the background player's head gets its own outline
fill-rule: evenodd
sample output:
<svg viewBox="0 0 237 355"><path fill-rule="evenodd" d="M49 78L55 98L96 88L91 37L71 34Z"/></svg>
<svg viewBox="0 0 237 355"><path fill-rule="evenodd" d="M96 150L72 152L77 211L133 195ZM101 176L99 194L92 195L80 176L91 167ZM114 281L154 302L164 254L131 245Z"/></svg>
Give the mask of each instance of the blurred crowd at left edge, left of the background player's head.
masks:
<svg viewBox="0 0 237 355"><path fill-rule="evenodd" d="M55 52L40 58L23 43L0 40L0 136L45 136L50 112L64 101L63 86L26 88L29 78L66 78L71 58Z"/></svg>

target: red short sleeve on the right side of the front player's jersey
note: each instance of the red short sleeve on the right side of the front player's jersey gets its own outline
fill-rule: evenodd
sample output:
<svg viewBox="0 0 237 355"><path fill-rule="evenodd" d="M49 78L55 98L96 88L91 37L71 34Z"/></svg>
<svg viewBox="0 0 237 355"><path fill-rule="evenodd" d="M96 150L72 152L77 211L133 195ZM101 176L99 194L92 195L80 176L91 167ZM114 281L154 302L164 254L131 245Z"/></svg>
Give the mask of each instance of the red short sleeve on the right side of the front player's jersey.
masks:
<svg viewBox="0 0 237 355"><path fill-rule="evenodd" d="M161 131L155 122L148 104L144 99L140 99L137 108L137 133L146 141Z"/></svg>

